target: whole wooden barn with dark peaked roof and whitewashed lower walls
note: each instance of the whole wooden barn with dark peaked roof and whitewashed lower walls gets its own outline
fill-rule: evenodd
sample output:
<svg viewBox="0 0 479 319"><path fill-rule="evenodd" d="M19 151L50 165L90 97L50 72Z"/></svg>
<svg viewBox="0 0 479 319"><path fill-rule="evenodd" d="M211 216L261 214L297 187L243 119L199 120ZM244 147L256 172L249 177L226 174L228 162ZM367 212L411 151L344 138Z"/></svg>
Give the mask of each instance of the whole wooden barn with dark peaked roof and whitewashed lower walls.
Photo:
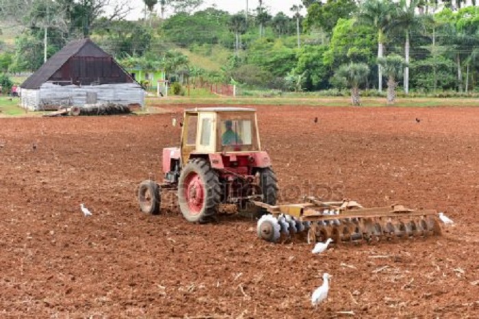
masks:
<svg viewBox="0 0 479 319"><path fill-rule="evenodd" d="M21 84L26 110L114 103L144 105L145 91L89 38L72 41Z"/></svg>

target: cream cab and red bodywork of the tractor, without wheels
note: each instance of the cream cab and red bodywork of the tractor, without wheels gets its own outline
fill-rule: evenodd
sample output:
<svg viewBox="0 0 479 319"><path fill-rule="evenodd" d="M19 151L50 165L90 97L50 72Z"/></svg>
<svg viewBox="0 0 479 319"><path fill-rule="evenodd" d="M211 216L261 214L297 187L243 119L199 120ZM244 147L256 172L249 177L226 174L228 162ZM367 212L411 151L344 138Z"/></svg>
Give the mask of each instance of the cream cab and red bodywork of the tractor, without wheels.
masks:
<svg viewBox="0 0 479 319"><path fill-rule="evenodd" d="M177 183L181 168L195 158L211 168L253 175L255 168L271 166L261 151L256 110L244 107L210 107L185 110L179 147L163 150L166 181Z"/></svg>

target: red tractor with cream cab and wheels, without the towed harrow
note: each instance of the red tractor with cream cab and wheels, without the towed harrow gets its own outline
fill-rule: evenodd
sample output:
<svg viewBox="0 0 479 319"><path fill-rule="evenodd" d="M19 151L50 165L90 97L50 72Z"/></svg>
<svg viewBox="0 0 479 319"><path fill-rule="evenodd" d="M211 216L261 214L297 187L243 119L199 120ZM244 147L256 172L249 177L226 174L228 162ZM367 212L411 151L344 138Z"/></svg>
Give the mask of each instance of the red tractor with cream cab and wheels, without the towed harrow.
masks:
<svg viewBox="0 0 479 319"><path fill-rule="evenodd" d="M161 184L140 184L138 200L146 214L159 214L161 189L177 190L181 213L190 222L208 222L220 204L239 211L252 199L276 205L276 175L261 151L254 109L185 110L180 146L163 149L163 173Z"/></svg>

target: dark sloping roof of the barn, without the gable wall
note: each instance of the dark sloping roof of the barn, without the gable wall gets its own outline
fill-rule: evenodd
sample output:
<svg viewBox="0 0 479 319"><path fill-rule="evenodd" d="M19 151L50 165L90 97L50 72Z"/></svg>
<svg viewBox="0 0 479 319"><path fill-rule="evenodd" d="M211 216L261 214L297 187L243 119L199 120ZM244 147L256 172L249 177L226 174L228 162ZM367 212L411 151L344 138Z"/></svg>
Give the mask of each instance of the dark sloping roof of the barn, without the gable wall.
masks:
<svg viewBox="0 0 479 319"><path fill-rule="evenodd" d="M86 44L89 44L88 46ZM21 88L26 89L38 89L42 84L49 81L57 73L57 71L74 56L95 56L97 58L108 58L110 55L98 47L92 40L86 38L81 40L75 40L66 44L63 49L55 53L47 62L45 62L34 74L30 75L28 79L21 84ZM125 70L116 62L117 66L122 71ZM126 73L126 72L125 72ZM130 77L126 73L127 77ZM132 79L133 80L133 79ZM134 81L134 80L133 80Z"/></svg>

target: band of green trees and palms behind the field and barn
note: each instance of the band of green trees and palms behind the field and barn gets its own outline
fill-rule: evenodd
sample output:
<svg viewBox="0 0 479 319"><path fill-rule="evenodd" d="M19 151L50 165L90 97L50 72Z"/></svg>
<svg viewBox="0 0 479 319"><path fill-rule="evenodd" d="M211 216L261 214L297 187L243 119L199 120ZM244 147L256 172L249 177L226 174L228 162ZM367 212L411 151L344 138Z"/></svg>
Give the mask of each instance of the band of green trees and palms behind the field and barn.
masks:
<svg viewBox="0 0 479 319"><path fill-rule="evenodd" d="M398 89L478 87L476 1L303 0L273 16L268 0L257 8L245 0L236 14L201 9L203 0L144 0L138 21L125 20L129 1L1 1L3 20L22 28L14 46L0 43L3 73L34 71L68 40L89 36L125 64L161 68L168 77L277 90L348 88L353 103L360 89L387 90L392 103ZM211 71L192 65L181 48L209 56L222 48L229 58Z"/></svg>

